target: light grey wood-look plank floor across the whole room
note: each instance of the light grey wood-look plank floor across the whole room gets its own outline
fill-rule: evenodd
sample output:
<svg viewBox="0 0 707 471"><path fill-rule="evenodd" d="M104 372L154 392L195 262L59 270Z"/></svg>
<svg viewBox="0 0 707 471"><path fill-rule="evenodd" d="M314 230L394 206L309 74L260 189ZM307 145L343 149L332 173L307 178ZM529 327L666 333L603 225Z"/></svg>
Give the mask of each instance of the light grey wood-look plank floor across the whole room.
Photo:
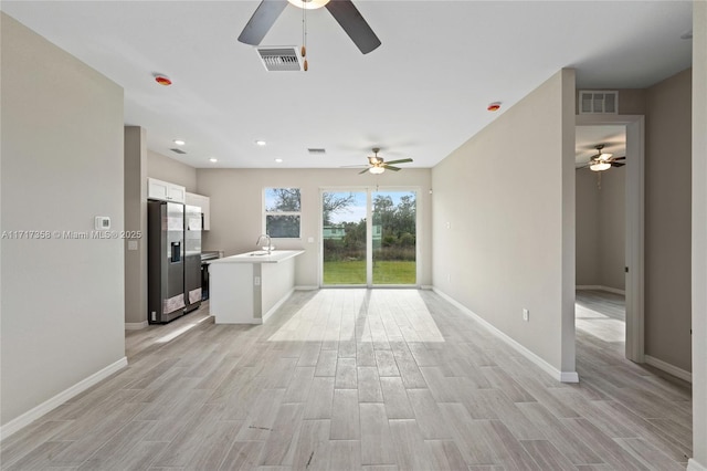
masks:
<svg viewBox="0 0 707 471"><path fill-rule="evenodd" d="M128 332L129 366L8 438L2 469L685 469L689 388L623 359L611 303L578 295L579 385L429 291L296 292L262 326L202 307Z"/></svg>

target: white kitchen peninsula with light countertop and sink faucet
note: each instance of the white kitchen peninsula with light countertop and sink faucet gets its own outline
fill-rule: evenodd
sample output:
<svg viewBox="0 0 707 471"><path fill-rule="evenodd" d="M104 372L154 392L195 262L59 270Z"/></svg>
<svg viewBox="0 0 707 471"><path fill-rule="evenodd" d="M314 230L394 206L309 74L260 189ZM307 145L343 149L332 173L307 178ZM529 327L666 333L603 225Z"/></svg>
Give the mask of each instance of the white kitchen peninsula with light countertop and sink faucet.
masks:
<svg viewBox="0 0 707 471"><path fill-rule="evenodd" d="M262 324L295 289L304 250L255 251L211 262L210 311L217 324Z"/></svg>

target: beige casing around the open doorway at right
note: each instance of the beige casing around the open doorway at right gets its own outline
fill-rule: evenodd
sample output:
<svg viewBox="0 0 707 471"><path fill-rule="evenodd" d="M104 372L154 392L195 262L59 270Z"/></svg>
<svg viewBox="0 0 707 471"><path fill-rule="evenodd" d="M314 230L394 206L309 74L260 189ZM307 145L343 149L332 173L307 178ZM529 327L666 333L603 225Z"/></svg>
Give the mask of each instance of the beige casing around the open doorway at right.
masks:
<svg viewBox="0 0 707 471"><path fill-rule="evenodd" d="M645 362L644 245L645 245L645 117L643 115L577 115L577 126L626 127L626 342L625 356Z"/></svg>

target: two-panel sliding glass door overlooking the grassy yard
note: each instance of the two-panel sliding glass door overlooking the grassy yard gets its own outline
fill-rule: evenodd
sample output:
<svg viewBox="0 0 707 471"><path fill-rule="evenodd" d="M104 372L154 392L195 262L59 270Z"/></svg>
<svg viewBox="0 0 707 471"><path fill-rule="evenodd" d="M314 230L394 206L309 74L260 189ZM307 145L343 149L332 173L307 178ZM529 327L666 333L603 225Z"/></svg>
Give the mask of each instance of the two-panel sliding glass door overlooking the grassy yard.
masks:
<svg viewBox="0 0 707 471"><path fill-rule="evenodd" d="M416 284L416 191L324 190L321 284Z"/></svg>

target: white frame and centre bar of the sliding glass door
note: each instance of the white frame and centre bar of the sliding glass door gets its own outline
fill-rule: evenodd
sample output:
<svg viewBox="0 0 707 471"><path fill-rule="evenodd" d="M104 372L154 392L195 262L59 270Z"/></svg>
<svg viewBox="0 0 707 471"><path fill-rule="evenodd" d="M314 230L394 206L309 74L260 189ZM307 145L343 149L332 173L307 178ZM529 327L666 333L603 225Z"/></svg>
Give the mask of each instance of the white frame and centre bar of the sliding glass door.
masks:
<svg viewBox="0 0 707 471"><path fill-rule="evenodd" d="M366 193L366 284L340 284L340 285L325 285L324 284L324 207L321 205L324 193L327 191L336 192L365 192ZM373 192L376 191L414 191L415 193L415 284L373 284ZM422 230L420 228L420 219L422 213L422 189L419 186L341 186L341 187L319 187L319 263L318 263L318 278L319 287L420 287L420 279L422 275L421 266L421 236Z"/></svg>

